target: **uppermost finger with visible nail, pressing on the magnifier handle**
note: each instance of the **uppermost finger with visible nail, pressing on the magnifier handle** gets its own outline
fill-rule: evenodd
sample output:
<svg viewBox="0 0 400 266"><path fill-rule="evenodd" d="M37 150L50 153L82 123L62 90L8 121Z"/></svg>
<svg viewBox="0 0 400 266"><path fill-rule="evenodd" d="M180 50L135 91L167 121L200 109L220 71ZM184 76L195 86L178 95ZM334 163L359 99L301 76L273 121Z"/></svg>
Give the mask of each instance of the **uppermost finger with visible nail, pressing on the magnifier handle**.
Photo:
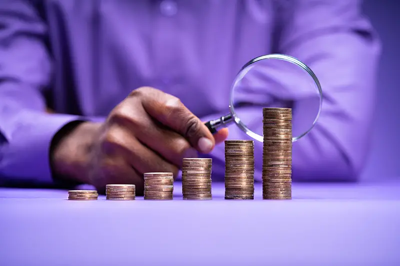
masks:
<svg viewBox="0 0 400 266"><path fill-rule="evenodd" d="M148 87L136 89L130 96L140 97L144 110L151 117L179 133L199 152L209 153L213 149L215 142L211 132L178 98Z"/></svg>

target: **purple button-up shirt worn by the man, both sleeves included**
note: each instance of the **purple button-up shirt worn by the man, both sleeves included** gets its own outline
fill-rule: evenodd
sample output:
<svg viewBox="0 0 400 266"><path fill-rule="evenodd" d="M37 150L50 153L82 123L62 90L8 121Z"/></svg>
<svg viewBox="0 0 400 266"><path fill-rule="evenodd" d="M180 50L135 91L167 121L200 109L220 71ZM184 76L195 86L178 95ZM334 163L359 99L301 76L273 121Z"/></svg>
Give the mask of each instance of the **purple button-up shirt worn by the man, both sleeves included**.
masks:
<svg viewBox="0 0 400 266"><path fill-rule="evenodd" d="M140 86L179 97L203 121L224 115L237 71L269 53L303 61L324 93L318 124L293 144L293 180L356 179L380 53L360 1L1 0L0 177L51 183L54 134L73 120L101 121ZM262 87L265 106L289 101L293 115L306 112L301 93L287 99ZM256 93L243 97L257 100ZM46 105L57 114L46 114ZM261 121L259 109L244 108ZM246 139L229 130L229 139ZM215 179L223 178L223 149L209 155ZM261 149L255 143L256 180Z"/></svg>

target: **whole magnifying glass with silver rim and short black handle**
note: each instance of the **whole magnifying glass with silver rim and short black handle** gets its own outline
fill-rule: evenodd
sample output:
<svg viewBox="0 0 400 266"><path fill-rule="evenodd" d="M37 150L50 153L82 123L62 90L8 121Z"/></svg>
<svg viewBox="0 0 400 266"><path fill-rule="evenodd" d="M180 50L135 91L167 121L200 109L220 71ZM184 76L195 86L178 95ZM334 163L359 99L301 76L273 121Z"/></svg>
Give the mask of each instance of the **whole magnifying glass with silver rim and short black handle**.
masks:
<svg viewBox="0 0 400 266"><path fill-rule="evenodd" d="M269 107L276 101L290 105L293 99L301 102L308 98L317 98L317 103L314 104L314 109L317 109L316 116L311 119L311 126L305 126L305 129L300 130L301 133L292 137L293 142L310 132L318 120L322 108L321 85L314 72L292 56L285 54L259 56L248 61L236 75L229 94L230 113L210 120L205 125L214 134L219 128L234 123L249 137L263 142L262 127L258 128L261 129L260 132L256 132L255 126L253 130L250 129L251 126L247 126L262 125L262 121L251 120L254 111L261 112L260 106ZM309 107L309 104L306 105ZM239 110L243 108L248 111L243 119L240 119ZM304 128L304 125L302 127Z"/></svg>

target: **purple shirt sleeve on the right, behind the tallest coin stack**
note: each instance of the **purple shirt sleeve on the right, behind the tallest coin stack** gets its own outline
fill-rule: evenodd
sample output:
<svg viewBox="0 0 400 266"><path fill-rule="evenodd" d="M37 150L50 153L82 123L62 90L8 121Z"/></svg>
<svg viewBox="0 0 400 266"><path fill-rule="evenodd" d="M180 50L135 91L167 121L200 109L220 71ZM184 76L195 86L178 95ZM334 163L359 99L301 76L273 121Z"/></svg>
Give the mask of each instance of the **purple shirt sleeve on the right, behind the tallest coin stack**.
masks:
<svg viewBox="0 0 400 266"><path fill-rule="evenodd" d="M308 135L293 143L292 178L298 181L353 181L366 159L375 98L380 42L360 11L358 0L279 1L277 52L298 58L318 77L324 96L322 111ZM293 131L305 128L312 113L310 100L317 96L296 90L300 80L284 71L260 73L262 86L238 94L242 102L271 106L268 99L292 101ZM260 88L268 97L260 96ZM239 108L237 108L240 110ZM221 114L203 118L215 119ZM254 121L251 129L262 134L262 112L242 107L242 120ZM251 118L251 119L250 119ZM299 121L296 125L294 121ZM237 127L229 127L229 139L246 139ZM262 145L255 141L255 177L260 179ZM211 156L213 172L223 175L223 144Z"/></svg>

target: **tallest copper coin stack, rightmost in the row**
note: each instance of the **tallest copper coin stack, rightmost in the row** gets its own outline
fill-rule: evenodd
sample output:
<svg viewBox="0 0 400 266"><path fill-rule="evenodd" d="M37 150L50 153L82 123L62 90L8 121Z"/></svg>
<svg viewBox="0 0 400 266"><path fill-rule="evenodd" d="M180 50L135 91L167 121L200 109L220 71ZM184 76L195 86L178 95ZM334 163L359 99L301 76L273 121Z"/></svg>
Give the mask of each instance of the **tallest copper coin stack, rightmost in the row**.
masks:
<svg viewBox="0 0 400 266"><path fill-rule="evenodd" d="M291 109L263 108L262 198L291 199Z"/></svg>

